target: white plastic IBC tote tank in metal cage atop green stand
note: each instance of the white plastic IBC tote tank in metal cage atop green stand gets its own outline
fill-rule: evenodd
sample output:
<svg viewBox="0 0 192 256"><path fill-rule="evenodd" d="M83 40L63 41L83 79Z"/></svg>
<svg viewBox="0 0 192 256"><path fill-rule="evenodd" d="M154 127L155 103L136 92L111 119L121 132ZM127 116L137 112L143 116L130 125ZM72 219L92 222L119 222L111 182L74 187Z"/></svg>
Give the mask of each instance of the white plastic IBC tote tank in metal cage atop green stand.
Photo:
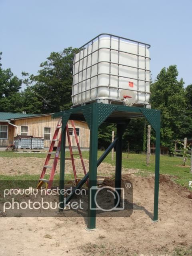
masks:
<svg viewBox="0 0 192 256"><path fill-rule="evenodd" d="M73 106L89 102L150 108L149 44L100 34L74 55Z"/></svg>

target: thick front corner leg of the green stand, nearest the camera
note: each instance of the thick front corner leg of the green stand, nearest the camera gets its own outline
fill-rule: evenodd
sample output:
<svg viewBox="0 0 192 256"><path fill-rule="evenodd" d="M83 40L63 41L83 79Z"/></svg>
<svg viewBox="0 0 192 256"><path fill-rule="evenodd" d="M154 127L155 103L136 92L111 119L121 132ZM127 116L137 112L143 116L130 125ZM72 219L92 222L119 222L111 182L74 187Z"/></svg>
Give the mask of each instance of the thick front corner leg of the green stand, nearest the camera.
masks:
<svg viewBox="0 0 192 256"><path fill-rule="evenodd" d="M96 226L96 210L94 196L96 190L90 190L97 186L97 148L98 148L98 108L95 104L92 105L91 126L90 126L90 152L89 152L89 196L88 196L88 229L93 229ZM90 203L91 200L91 203Z"/></svg>

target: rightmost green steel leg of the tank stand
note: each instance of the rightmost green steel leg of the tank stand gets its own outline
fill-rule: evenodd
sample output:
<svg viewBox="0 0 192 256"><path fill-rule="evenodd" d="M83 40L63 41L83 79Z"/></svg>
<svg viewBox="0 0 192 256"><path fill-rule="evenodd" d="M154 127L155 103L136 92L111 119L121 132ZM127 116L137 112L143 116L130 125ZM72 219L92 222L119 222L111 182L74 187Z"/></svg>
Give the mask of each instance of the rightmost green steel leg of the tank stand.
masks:
<svg viewBox="0 0 192 256"><path fill-rule="evenodd" d="M160 111L157 112L157 124L156 124L155 188L154 188L154 214L153 214L154 221L158 220L159 162L160 162Z"/></svg>

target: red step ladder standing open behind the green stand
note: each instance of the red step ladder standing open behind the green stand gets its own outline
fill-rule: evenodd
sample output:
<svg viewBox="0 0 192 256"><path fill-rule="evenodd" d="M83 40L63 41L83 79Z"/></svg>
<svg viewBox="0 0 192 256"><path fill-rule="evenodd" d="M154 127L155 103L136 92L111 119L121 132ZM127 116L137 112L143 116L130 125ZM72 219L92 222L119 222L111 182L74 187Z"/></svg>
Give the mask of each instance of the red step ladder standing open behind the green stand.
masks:
<svg viewBox="0 0 192 256"><path fill-rule="evenodd" d="M77 148L78 148L78 154L74 154L73 153L72 145L71 145L71 140L70 140L70 134L69 134L69 128L68 128L68 124L66 124L66 134L67 134L67 139L68 139L68 144L69 144L70 158L65 158L65 160L71 160L72 167L73 167L73 174L74 174L74 178L75 178L75 183L78 184L78 182L80 180L77 178L77 174L76 174L74 155L79 155L80 156L80 160L81 160L81 163L82 163L82 168L83 168L83 171L84 171L85 175L86 175L86 168L85 168L85 165L84 165L84 161L83 161L83 157L82 157L82 152L81 152L81 149L80 149L80 145L79 145L79 141L78 141L78 136L77 136L77 133L76 133L76 128L75 128L73 120L71 120L71 124L72 124L72 129L73 129L73 133L74 133L76 144L77 144ZM51 145L50 145L50 148L49 148L49 151L48 151L45 163L44 163L44 167L43 167L43 170L42 170L42 173L41 173L41 176L40 176L37 188L42 187L42 185L44 183L45 183L46 189L50 189L52 187L52 183L53 183L56 167L57 167L57 164L58 164L58 160L60 160L59 153L60 153L60 148L61 148L61 133L60 133L59 139L58 139L58 135L59 135L59 131L60 131L61 127L62 127L62 119L60 119L58 121L56 130L54 132L54 136L52 138L52 142L51 142ZM56 141L58 141L57 150L56 150L56 152L53 152L54 145L55 145ZM52 155L54 155L54 161L53 161L53 164L51 166L51 165L49 165L49 161L50 161L50 159L52 159L51 158ZM46 180L46 179L44 179L44 176L46 174L47 169L49 169L49 168L51 169L50 176L49 176L49 179ZM87 184L88 184L88 182L87 182Z"/></svg>

